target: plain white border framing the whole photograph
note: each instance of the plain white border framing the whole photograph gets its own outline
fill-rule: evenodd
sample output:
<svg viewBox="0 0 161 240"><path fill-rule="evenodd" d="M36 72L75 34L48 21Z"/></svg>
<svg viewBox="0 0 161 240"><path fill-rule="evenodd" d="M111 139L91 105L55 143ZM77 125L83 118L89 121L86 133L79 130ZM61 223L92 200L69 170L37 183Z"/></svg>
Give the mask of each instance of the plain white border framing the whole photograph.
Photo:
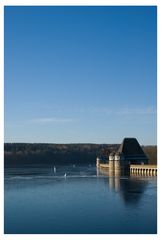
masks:
<svg viewBox="0 0 161 240"><path fill-rule="evenodd" d="M18 239L82 239L84 238L91 238L91 239L107 239L110 240L113 239L119 239L119 240L126 240L129 238L135 239L146 239L146 240L159 240L161 239L161 224L160 224L160 184L158 181L158 187L157 187L157 234L4 234L4 6L157 6L157 147L158 147L158 169L160 169L160 157L161 157L161 117L160 117L160 107L161 107L161 83L160 83L160 69L159 66L161 66L161 51L160 51L160 44L161 43L161 37L160 37L160 29L161 29L161 4L159 0L1 0L0 1L0 239L1 240L18 240ZM160 171L158 171L158 179L161 179ZM146 219L145 219L146 220Z"/></svg>

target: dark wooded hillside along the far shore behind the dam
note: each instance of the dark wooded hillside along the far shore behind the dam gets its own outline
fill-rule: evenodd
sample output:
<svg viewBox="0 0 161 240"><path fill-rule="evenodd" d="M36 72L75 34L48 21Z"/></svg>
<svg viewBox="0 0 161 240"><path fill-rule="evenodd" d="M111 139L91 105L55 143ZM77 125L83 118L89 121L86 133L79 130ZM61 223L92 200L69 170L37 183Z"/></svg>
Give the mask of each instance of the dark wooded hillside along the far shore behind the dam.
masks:
<svg viewBox="0 0 161 240"><path fill-rule="evenodd" d="M42 144L42 143L5 143L4 164L82 164L95 163L99 156L107 161L111 151L119 144ZM150 163L157 163L157 147L143 146Z"/></svg>

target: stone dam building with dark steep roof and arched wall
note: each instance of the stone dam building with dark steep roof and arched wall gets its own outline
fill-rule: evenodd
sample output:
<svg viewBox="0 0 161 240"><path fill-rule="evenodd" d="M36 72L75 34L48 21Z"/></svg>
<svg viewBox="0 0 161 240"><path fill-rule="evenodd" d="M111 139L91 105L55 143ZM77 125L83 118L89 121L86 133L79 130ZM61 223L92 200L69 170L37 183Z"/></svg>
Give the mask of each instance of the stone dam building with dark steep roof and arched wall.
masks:
<svg viewBox="0 0 161 240"><path fill-rule="evenodd" d="M107 163L101 163L97 158L96 166L108 169L112 175L157 175L157 166L148 164L148 158L135 138L125 138L118 151L109 154Z"/></svg>

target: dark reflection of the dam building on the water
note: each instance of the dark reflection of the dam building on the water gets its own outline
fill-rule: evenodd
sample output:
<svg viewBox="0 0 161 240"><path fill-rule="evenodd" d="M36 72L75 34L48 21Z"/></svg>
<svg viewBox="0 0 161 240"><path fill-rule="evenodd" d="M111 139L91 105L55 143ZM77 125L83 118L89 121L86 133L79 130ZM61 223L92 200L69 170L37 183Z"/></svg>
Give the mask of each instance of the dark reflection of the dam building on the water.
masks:
<svg viewBox="0 0 161 240"><path fill-rule="evenodd" d="M107 170L97 169L97 176L107 176L110 191L119 193L126 205L138 204L148 186L148 178L141 176L122 176L120 173L111 173Z"/></svg>

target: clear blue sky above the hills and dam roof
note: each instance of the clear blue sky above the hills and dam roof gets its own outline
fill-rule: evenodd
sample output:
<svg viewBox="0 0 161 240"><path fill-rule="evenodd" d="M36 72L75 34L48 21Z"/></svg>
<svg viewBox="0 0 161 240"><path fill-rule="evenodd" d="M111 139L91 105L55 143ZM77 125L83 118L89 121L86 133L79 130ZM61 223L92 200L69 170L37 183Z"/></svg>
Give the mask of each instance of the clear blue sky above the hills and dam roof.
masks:
<svg viewBox="0 0 161 240"><path fill-rule="evenodd" d="M156 144L156 7L5 7L5 142Z"/></svg>

